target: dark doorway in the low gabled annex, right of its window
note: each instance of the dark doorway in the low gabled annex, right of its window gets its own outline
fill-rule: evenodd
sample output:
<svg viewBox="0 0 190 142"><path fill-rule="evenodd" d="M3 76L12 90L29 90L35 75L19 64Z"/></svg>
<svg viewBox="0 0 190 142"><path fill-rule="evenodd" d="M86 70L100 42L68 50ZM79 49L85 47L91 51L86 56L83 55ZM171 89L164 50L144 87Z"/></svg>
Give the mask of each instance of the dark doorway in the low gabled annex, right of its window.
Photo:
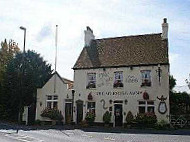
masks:
<svg viewBox="0 0 190 142"><path fill-rule="evenodd" d="M72 120L72 103L65 103L65 123L71 124Z"/></svg>

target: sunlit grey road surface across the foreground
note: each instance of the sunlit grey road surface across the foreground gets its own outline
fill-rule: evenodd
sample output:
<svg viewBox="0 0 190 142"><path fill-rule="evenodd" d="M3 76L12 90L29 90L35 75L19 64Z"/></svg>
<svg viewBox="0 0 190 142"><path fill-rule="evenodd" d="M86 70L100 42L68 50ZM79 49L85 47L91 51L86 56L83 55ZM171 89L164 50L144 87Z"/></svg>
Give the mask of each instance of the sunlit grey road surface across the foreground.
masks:
<svg viewBox="0 0 190 142"><path fill-rule="evenodd" d="M144 131L144 130L141 130ZM189 131L188 131L189 133ZM16 129L1 127L0 142L190 142L188 135L101 132L81 129Z"/></svg>

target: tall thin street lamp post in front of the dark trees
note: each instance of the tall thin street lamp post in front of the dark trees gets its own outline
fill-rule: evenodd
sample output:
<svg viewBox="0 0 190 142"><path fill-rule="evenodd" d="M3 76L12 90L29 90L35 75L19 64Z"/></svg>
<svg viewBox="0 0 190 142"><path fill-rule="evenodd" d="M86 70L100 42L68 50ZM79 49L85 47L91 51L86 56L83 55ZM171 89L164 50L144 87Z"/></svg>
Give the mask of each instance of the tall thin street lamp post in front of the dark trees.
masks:
<svg viewBox="0 0 190 142"><path fill-rule="evenodd" d="M23 47L23 56L22 56L22 63L21 63L21 74L20 74L20 87L21 87L21 92L19 96L19 112L18 112L18 123L20 124L21 122L21 107L22 107L22 96L23 96L23 76L24 76L24 58L25 58L25 43L26 43L26 28L23 26L20 26L20 29L24 31L24 47ZM17 129L17 133L18 133Z"/></svg>

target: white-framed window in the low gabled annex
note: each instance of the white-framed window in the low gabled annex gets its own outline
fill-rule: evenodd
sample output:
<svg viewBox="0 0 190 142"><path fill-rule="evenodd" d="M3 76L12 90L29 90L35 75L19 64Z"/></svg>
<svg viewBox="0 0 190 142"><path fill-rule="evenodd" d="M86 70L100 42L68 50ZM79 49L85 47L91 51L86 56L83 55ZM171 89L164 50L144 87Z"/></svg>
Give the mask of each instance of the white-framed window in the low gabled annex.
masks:
<svg viewBox="0 0 190 142"><path fill-rule="evenodd" d="M58 106L58 96L57 95L48 95L46 100L47 108L55 108Z"/></svg>

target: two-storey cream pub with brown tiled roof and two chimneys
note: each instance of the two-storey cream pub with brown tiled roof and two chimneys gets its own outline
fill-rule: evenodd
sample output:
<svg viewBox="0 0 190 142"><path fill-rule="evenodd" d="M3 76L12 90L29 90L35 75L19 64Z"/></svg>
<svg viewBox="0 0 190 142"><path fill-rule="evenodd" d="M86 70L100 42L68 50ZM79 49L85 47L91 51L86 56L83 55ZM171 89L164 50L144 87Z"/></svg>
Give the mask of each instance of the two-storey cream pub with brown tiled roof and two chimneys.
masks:
<svg viewBox="0 0 190 142"><path fill-rule="evenodd" d="M73 121L86 113L95 123L111 112L113 127L123 126L129 111L155 113L169 122L168 23L162 33L95 39L90 27L74 70Z"/></svg>

